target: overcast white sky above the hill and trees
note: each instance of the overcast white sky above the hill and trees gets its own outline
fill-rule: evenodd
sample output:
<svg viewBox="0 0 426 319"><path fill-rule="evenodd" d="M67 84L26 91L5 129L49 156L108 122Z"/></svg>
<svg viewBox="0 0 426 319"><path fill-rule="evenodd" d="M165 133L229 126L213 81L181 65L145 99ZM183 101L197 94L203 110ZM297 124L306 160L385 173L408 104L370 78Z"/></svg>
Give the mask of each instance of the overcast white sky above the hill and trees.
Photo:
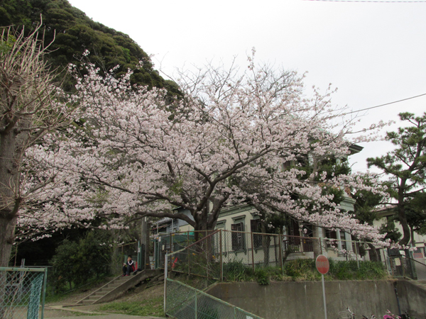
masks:
<svg viewBox="0 0 426 319"><path fill-rule="evenodd" d="M338 88L333 101L353 110L426 94L426 1L418 3L303 0L69 0L89 18L130 35L153 55L156 69L229 62L256 47L256 60L308 72L305 83ZM367 0L368 1L368 0ZM421 115L426 96L363 112L361 124ZM366 157L391 150L361 143Z"/></svg>

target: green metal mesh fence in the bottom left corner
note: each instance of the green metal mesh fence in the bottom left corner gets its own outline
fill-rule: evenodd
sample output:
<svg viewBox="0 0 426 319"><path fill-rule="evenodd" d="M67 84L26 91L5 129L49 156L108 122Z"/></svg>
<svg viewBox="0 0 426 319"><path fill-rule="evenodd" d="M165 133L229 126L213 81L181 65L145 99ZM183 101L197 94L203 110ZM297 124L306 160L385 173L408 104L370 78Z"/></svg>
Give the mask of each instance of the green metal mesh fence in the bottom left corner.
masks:
<svg viewBox="0 0 426 319"><path fill-rule="evenodd" d="M43 319L46 278L46 268L0 267L0 318Z"/></svg>

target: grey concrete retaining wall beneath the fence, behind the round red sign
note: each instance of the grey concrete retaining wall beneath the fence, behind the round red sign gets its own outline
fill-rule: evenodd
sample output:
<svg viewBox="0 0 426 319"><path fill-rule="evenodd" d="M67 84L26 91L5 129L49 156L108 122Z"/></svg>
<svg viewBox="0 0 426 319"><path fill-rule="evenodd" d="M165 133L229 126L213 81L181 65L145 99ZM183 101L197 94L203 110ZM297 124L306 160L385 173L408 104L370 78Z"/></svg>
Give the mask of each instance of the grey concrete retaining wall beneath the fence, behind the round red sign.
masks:
<svg viewBox="0 0 426 319"><path fill-rule="evenodd" d="M327 318L338 318L339 312L349 306L356 314L376 315L383 318L386 310L398 313L398 303L394 290L395 281L326 281ZM409 291L408 288L407 291ZM401 310L410 310L407 291L399 293L403 300ZM322 283L317 282L275 282L267 286L257 283L222 283L207 291L212 296L234 306L254 313L265 319L280 318L324 318ZM416 303L423 303L424 295ZM417 312L417 319L426 319L425 312ZM412 317L415 318L415 317Z"/></svg>

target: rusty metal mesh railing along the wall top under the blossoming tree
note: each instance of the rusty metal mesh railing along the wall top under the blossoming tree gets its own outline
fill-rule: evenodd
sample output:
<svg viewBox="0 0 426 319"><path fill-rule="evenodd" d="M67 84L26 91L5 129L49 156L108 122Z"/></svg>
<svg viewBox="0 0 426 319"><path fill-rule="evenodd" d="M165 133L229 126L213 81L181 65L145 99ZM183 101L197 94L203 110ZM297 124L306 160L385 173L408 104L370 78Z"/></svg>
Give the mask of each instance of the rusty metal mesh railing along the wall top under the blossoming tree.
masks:
<svg viewBox="0 0 426 319"><path fill-rule="evenodd" d="M197 242L197 244L195 244ZM369 260L365 242L278 234L209 230L159 234L155 242L156 268L164 268L169 254L170 269L222 280L224 264L280 267L294 259L314 259L326 254L334 261ZM384 255L382 253L382 259Z"/></svg>

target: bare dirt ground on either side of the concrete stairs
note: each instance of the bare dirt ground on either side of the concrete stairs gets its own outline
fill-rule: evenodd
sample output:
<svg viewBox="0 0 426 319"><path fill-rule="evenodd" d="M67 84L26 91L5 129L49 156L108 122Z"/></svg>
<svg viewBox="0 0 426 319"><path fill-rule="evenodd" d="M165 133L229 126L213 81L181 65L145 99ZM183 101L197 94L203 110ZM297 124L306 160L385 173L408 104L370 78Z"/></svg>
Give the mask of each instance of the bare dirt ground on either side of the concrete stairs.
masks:
<svg viewBox="0 0 426 319"><path fill-rule="evenodd" d="M101 285L102 286L102 285ZM55 303L46 303L44 310L44 318L58 318L58 317L71 317L79 315L97 315L102 313L108 313L107 311L99 310L100 306L105 303L99 303L94 305L78 305L76 302L80 301L85 296L89 295L93 291L99 289L100 286L94 287L88 291L79 293L72 293L70 296L62 298L60 301ZM119 299L113 302L133 302L138 301L143 303L146 300L164 296L164 286L161 283L143 284L136 287L132 291L126 293Z"/></svg>

